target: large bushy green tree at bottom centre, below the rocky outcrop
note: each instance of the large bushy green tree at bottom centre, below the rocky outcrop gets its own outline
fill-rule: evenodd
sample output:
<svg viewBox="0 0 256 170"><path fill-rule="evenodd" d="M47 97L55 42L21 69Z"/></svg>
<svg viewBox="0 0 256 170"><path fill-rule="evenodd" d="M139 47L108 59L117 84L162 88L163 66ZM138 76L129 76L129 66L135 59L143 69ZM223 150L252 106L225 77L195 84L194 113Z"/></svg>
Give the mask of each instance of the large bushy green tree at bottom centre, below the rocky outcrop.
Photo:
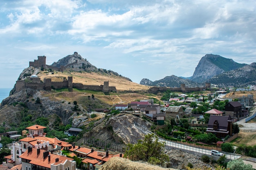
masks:
<svg viewBox="0 0 256 170"><path fill-rule="evenodd" d="M124 157L132 161L142 160L158 165L169 161L168 155L164 153L164 143L159 142L154 134L146 135L144 141L138 140L137 144L128 144Z"/></svg>

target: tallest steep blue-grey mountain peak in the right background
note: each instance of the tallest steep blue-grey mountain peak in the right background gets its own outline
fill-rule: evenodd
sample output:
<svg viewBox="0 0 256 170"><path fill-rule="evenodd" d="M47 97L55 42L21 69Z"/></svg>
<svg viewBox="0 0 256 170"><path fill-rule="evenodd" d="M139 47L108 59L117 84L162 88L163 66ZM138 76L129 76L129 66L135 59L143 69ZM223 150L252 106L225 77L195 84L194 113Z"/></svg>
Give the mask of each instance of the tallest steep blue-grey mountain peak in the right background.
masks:
<svg viewBox="0 0 256 170"><path fill-rule="evenodd" d="M247 64L239 64L232 59L220 55L207 54L199 61L191 80L202 83L213 76L241 68L245 65Z"/></svg>

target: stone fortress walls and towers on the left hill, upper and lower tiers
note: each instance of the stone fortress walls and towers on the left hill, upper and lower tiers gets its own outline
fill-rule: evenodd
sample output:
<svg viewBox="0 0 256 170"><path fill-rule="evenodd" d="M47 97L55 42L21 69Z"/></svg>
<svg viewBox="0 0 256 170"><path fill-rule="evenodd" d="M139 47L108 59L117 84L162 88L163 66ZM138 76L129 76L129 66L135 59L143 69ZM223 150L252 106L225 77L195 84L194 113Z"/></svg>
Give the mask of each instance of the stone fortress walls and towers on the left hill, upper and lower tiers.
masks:
<svg viewBox="0 0 256 170"><path fill-rule="evenodd" d="M74 52L76 53L76 52ZM77 53L76 53L77 54ZM29 66L34 67L43 67L43 68L51 68L56 71L63 71L68 66L71 66L74 63L67 64L66 66L61 66L60 68L46 65L46 56L38 56L38 60L34 60L34 62L29 62ZM32 88L35 90L46 90L51 91L53 89L58 88L68 88L69 91L72 91L72 88L77 88L79 90L91 90L91 91L117 91L115 86L109 86L109 82L104 82L103 85L84 85L82 83L73 83L73 77L67 77L67 80L63 80L62 82L52 82L51 78L44 78L43 82L39 77L29 77L29 81L19 80L16 81L16 91L21 91L24 88Z"/></svg>

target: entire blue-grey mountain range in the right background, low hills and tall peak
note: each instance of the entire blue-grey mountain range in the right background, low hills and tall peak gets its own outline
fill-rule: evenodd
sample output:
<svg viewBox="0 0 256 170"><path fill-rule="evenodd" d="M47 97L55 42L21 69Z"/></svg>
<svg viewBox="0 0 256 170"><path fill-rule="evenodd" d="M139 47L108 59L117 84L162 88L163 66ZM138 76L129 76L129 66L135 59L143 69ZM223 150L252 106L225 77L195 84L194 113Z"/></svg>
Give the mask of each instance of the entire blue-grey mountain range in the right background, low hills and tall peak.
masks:
<svg viewBox="0 0 256 170"><path fill-rule="evenodd" d="M206 54L198 63L191 77L177 77L175 75L164 77L155 82L142 79L139 84L147 86L180 87L186 84L189 87L203 86L209 82L218 86L244 86L255 84L255 63L251 65L239 64L232 59L220 55Z"/></svg>

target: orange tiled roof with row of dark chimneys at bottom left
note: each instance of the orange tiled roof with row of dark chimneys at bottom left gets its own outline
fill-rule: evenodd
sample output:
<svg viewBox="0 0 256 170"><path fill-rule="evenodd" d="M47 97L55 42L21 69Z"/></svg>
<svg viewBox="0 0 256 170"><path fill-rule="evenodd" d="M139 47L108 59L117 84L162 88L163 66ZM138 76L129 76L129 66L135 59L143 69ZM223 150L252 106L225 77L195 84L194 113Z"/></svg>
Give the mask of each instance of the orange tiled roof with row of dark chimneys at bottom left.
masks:
<svg viewBox="0 0 256 170"><path fill-rule="evenodd" d="M40 150L39 153L38 153L38 150ZM70 160L70 161L74 160L69 157L51 154L50 152L42 150L42 149L31 148L31 151L30 152L28 152L28 151L29 151L29 149L27 149L22 155L20 155L20 158L28 159L28 160L30 160L31 164L43 166L46 168L51 168L52 163L59 164L59 163L64 163L66 160ZM48 152L48 154L45 158L43 157L44 152ZM50 161L49 161L48 155L50 155ZM56 158L58 158L58 162L56 162Z"/></svg>

